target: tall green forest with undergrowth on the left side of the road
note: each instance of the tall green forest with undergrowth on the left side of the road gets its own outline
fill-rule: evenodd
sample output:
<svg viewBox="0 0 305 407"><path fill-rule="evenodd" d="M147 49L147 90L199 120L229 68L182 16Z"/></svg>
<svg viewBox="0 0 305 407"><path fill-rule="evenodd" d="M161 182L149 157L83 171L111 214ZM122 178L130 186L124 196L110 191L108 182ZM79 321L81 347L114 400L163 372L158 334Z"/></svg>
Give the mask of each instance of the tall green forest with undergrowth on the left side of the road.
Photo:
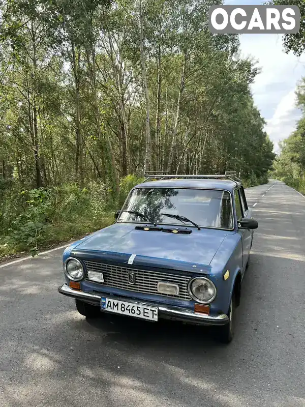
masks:
<svg viewBox="0 0 305 407"><path fill-rule="evenodd" d="M221 1L0 4L0 258L111 224L145 171L267 181L259 68L209 33Z"/></svg>

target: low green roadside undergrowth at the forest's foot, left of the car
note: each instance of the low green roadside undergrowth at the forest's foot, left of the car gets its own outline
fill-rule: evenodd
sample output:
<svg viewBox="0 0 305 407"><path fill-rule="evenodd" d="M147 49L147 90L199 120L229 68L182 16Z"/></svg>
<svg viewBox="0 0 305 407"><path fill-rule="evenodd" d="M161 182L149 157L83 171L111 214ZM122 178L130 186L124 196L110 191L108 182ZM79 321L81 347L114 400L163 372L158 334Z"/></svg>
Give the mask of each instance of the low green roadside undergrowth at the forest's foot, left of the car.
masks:
<svg viewBox="0 0 305 407"><path fill-rule="evenodd" d="M142 181L133 175L121 179L118 196L101 180L83 189L69 183L21 192L18 185L0 184L0 258L19 251L36 253L110 225L115 210Z"/></svg>

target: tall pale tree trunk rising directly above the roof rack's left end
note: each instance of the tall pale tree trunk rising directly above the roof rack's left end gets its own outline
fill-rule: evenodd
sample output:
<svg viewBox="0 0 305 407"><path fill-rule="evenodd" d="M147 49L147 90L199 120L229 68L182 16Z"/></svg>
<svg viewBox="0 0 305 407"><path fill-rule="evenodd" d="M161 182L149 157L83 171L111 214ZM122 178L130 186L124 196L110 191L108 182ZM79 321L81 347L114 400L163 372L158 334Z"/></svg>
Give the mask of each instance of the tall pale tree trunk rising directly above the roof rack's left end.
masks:
<svg viewBox="0 0 305 407"><path fill-rule="evenodd" d="M140 16L140 53L141 53L141 66L142 66L142 81L146 101L146 126L145 126L145 164L144 172L150 171L151 166L151 140L150 140L150 121L149 121L149 94L146 79L146 65L144 54L144 33L143 33L143 14L142 0L139 0L139 16Z"/></svg>

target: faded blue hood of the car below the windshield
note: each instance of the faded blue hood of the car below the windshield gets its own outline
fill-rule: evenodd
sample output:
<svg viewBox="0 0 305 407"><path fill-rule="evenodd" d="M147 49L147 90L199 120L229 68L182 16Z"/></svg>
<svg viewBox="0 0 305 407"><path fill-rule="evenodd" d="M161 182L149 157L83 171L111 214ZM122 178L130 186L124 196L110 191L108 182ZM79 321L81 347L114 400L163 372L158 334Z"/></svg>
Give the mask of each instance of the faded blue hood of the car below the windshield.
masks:
<svg viewBox="0 0 305 407"><path fill-rule="evenodd" d="M135 226L115 223L73 245L73 252L82 252L83 257L90 252L90 257L111 257L114 261L113 256L117 254L117 261L123 260L123 263L127 263L130 256L135 254L134 265L143 265L145 257L145 265L156 267L168 267L169 263L177 261L191 263L192 267L208 266L227 236L226 231L216 229L190 228L190 235L179 235L136 230Z"/></svg>

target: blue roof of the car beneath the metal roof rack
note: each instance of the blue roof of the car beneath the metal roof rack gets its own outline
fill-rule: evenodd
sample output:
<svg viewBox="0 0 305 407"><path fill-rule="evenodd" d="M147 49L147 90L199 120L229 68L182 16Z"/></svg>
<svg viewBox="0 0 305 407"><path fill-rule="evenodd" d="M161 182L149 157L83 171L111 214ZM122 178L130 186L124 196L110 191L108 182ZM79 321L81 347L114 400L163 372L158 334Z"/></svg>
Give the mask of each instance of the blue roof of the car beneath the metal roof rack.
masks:
<svg viewBox="0 0 305 407"><path fill-rule="evenodd" d="M168 179L168 180L158 180L149 181L137 185L135 188L205 188L205 189L221 189L224 191L232 191L234 188L241 186L240 182L235 182L233 180L212 180L212 179Z"/></svg>

